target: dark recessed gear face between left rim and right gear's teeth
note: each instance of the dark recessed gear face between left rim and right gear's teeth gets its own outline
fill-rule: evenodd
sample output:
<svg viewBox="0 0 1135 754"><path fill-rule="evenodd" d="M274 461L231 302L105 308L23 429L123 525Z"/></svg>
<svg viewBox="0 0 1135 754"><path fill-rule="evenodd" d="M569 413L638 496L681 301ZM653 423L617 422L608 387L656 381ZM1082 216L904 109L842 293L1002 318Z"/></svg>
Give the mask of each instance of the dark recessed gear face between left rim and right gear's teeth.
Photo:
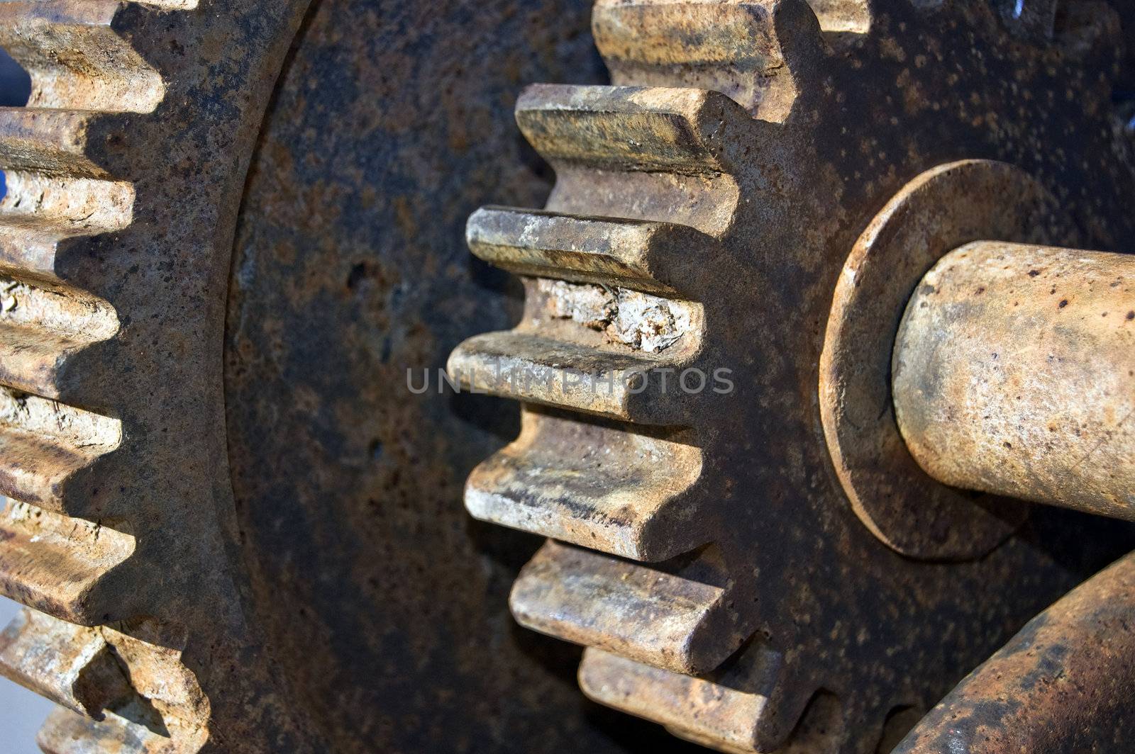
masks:
<svg viewBox="0 0 1135 754"><path fill-rule="evenodd" d="M335 752L649 751L582 700L579 652L519 630L536 537L471 524L469 471L515 433L437 392L463 338L519 314L471 261L487 196L538 202L513 130L531 77L599 81L586 1L322 2L253 158L225 353L233 489L278 687ZM406 370L431 389L407 390Z"/></svg>

